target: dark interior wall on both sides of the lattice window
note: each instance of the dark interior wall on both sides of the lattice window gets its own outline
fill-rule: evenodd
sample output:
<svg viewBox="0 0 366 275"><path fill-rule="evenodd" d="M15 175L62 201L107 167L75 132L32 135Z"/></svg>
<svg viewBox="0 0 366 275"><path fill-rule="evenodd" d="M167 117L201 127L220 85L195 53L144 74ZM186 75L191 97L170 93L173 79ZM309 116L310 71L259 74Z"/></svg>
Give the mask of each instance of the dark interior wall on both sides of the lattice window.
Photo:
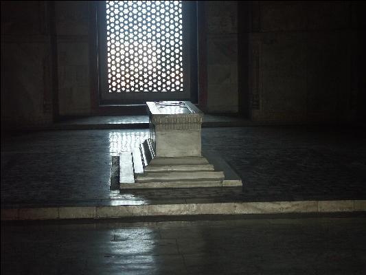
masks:
<svg viewBox="0 0 366 275"><path fill-rule="evenodd" d="M1 2L1 123L93 113L92 1ZM362 1L205 1L207 111L354 121L365 110Z"/></svg>

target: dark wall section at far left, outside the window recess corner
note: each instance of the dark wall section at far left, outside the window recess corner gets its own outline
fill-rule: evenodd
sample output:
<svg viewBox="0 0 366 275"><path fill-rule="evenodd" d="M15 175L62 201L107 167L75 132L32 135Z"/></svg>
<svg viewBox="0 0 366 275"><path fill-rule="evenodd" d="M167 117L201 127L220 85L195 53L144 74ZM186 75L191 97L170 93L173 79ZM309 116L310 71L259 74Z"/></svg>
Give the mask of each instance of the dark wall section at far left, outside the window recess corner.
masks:
<svg viewBox="0 0 366 275"><path fill-rule="evenodd" d="M44 1L1 1L1 124L52 122L52 50Z"/></svg>

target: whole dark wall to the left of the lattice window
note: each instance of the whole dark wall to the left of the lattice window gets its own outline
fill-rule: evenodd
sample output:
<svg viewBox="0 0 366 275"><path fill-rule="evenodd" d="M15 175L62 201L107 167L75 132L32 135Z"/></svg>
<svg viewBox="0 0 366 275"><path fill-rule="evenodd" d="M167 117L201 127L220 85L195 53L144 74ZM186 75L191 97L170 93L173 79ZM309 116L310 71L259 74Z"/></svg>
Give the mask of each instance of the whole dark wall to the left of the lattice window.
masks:
<svg viewBox="0 0 366 275"><path fill-rule="evenodd" d="M89 1L1 1L1 124L91 114Z"/></svg>

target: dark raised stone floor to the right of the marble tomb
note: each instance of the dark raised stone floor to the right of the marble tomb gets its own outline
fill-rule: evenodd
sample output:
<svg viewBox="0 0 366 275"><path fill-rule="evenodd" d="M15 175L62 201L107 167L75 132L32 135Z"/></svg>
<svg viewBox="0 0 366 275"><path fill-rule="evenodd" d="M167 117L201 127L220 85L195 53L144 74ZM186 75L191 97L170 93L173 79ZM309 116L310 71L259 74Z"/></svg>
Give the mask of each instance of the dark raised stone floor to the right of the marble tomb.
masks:
<svg viewBox="0 0 366 275"><path fill-rule="evenodd" d="M366 135L325 126L205 129L203 147L238 171L251 199L366 198Z"/></svg>

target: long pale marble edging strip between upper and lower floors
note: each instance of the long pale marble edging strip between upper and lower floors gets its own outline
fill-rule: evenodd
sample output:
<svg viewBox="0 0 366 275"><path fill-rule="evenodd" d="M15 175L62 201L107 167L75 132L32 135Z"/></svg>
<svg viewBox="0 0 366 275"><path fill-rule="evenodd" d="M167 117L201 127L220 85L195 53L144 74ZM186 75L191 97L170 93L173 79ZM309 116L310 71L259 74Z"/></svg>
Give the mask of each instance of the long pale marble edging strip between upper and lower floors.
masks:
<svg viewBox="0 0 366 275"><path fill-rule="evenodd" d="M45 219L108 219L196 214L281 214L307 212L366 212L366 200L271 201L144 204L55 208L1 209L1 221Z"/></svg>

